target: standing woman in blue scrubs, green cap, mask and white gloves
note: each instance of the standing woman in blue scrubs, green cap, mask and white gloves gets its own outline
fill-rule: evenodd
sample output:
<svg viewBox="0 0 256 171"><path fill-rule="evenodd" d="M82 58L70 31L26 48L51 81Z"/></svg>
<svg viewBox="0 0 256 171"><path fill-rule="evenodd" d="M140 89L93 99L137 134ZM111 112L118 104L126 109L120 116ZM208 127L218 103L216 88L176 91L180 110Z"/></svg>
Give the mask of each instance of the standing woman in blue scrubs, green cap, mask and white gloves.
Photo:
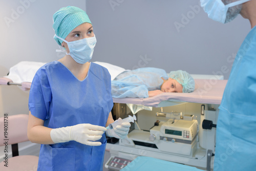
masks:
<svg viewBox="0 0 256 171"><path fill-rule="evenodd" d="M105 128L114 122L111 77L89 62L96 37L86 12L61 8L53 22L67 55L42 66L31 85L28 137L41 144L37 170L102 170L105 135L125 138L131 124Z"/></svg>

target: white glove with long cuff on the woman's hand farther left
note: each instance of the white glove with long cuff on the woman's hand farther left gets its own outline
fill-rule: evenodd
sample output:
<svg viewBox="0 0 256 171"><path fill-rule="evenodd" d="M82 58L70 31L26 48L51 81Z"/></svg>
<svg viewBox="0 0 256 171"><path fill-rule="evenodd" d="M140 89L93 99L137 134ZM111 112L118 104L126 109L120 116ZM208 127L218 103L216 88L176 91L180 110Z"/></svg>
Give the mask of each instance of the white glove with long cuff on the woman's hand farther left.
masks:
<svg viewBox="0 0 256 171"><path fill-rule="evenodd" d="M106 131L103 126L81 123L74 126L60 127L51 130L51 138L54 143L76 141L82 144L99 146L101 142L95 142Z"/></svg>

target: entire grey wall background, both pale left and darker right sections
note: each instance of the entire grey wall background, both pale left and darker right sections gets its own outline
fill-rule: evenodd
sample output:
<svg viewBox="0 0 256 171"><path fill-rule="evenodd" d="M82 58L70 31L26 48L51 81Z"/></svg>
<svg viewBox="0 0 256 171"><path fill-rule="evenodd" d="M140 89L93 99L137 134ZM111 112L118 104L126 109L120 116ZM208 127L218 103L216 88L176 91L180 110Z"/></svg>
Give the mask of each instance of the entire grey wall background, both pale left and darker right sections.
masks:
<svg viewBox="0 0 256 171"><path fill-rule="evenodd" d="M1 76L22 60L63 56L55 52L52 15L69 5L87 9L97 37L93 61L125 69L182 69L227 79L233 55L250 30L241 16L225 25L208 19L199 0L1 0Z"/></svg>

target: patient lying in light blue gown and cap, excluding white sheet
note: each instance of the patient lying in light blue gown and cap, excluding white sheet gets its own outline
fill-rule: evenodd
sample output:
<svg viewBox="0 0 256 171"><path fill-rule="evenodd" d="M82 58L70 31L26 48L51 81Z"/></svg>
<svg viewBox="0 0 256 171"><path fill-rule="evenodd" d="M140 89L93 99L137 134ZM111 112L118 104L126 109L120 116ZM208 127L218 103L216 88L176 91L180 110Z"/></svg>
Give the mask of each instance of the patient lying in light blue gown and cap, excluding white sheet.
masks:
<svg viewBox="0 0 256 171"><path fill-rule="evenodd" d="M112 97L153 97L164 92L190 93L194 79L186 71L172 71L168 75L158 68L139 68L124 71L111 82Z"/></svg>

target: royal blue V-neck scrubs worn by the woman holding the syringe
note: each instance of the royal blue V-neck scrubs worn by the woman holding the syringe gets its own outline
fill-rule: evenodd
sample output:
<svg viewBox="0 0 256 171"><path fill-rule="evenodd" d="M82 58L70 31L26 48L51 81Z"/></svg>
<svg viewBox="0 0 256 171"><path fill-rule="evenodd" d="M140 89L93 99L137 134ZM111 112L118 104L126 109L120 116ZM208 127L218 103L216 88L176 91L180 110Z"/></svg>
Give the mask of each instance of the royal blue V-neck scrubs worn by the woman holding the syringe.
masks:
<svg viewBox="0 0 256 171"><path fill-rule="evenodd" d="M47 63L31 85L29 110L53 129L79 123L105 126L112 107L110 74L95 63L82 81L62 63ZM99 141L100 146L76 141L42 144L37 170L102 170L105 135Z"/></svg>

